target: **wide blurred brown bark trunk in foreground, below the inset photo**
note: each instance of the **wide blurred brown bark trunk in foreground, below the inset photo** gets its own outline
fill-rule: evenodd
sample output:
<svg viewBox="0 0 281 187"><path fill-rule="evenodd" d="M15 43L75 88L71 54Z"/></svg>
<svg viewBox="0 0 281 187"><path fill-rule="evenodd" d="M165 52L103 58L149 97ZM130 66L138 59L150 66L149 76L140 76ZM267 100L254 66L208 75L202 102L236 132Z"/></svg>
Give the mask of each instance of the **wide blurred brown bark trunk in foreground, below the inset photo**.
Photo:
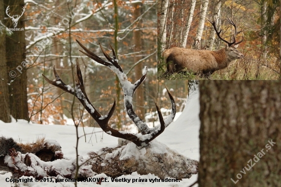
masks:
<svg viewBox="0 0 281 187"><path fill-rule="evenodd" d="M199 89L199 186L280 186L280 82L201 81Z"/></svg>

